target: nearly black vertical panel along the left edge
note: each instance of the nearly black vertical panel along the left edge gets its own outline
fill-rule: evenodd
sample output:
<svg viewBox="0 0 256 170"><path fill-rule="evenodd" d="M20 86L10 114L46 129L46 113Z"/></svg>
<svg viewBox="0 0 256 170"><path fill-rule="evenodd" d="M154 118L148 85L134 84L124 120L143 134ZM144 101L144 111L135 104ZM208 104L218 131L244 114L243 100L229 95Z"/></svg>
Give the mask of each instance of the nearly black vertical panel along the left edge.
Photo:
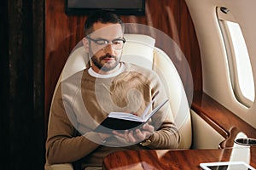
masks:
<svg viewBox="0 0 256 170"><path fill-rule="evenodd" d="M1 169L44 168L44 2L3 0Z"/></svg>

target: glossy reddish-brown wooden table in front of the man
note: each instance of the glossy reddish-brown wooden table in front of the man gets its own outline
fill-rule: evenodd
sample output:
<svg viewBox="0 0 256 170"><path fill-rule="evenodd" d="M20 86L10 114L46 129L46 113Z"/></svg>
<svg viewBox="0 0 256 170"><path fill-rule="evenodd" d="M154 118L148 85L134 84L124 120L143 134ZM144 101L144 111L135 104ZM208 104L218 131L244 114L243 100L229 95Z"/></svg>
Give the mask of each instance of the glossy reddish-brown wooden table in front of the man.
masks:
<svg viewBox="0 0 256 170"><path fill-rule="evenodd" d="M103 169L200 169L201 162L247 161L256 167L256 147L222 150L125 150L112 153L103 160Z"/></svg>

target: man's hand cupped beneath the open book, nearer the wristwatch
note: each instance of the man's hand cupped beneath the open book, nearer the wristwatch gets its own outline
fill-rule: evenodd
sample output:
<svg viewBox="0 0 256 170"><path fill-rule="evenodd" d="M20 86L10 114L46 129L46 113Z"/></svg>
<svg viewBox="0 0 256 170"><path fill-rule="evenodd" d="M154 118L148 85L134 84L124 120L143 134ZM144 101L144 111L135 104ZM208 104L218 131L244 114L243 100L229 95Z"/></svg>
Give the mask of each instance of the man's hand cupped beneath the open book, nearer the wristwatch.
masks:
<svg viewBox="0 0 256 170"><path fill-rule="evenodd" d="M125 133L113 131L113 134L125 139L128 143L138 143L144 139L148 139L154 133L154 127L148 123L136 130L125 130Z"/></svg>

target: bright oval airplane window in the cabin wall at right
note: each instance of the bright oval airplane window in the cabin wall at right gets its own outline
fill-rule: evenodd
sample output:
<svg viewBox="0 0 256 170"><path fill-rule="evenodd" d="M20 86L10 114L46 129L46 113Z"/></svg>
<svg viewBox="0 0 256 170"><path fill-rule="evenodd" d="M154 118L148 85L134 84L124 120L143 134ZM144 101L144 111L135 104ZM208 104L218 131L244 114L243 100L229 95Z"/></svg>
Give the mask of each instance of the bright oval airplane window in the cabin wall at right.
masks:
<svg viewBox="0 0 256 170"><path fill-rule="evenodd" d="M255 94L253 70L245 39L239 24L234 20L230 21L231 17L224 20L224 14L218 14L218 16L229 61L230 80L234 94L241 104L249 107L253 104Z"/></svg>

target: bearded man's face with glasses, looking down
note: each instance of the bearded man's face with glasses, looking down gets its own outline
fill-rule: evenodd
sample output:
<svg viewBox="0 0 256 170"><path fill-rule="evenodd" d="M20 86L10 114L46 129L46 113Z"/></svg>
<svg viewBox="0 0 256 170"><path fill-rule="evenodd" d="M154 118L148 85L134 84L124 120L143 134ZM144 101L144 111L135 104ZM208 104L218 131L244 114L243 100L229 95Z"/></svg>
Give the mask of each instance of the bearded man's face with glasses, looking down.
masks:
<svg viewBox="0 0 256 170"><path fill-rule="evenodd" d="M89 35L89 54L92 69L108 74L118 68L123 47L123 31L119 24L94 24L94 32Z"/></svg>

